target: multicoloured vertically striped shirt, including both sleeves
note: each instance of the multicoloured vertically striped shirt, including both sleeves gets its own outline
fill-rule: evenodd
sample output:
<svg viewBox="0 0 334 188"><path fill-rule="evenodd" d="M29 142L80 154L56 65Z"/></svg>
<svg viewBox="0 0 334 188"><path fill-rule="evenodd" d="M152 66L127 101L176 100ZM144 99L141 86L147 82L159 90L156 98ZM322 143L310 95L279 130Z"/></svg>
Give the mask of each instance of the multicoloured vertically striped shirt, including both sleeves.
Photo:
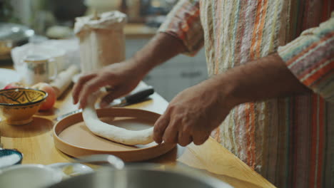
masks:
<svg viewBox="0 0 334 188"><path fill-rule="evenodd" d="M236 106L212 136L277 187L334 187L334 18L330 0L181 0L159 31L208 75L278 52L314 93ZM321 24L320 24L321 23Z"/></svg>

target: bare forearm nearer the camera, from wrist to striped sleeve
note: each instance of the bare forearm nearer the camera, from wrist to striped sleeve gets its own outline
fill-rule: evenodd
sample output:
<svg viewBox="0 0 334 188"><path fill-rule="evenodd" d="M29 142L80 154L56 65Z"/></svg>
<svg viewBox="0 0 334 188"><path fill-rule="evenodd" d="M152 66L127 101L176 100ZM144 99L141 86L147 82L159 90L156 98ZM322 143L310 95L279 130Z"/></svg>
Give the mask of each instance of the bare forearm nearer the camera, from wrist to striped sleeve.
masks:
<svg viewBox="0 0 334 188"><path fill-rule="evenodd" d="M285 66L277 53L238 66L210 80L231 107L286 95L310 92ZM225 99L226 100L226 99Z"/></svg>

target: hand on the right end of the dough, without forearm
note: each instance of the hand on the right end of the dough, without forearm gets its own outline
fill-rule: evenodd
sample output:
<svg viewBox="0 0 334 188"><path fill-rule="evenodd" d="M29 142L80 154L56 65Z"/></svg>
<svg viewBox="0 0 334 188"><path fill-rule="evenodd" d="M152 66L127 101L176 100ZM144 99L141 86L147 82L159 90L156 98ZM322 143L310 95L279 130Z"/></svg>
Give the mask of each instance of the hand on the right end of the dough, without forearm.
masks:
<svg viewBox="0 0 334 188"><path fill-rule="evenodd" d="M231 110L215 81L211 78L176 95L156 121L153 139L182 146L203 144Z"/></svg>

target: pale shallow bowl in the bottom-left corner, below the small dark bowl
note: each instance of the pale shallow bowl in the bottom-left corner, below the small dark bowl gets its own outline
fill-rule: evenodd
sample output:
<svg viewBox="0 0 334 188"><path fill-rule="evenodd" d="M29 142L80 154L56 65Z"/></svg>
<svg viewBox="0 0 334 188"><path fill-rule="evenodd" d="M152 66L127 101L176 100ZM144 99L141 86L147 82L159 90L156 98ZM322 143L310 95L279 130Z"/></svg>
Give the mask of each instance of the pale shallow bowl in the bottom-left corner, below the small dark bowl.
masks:
<svg viewBox="0 0 334 188"><path fill-rule="evenodd" d="M61 179L59 170L42 164L19 164L0 171L1 187L47 187Z"/></svg>

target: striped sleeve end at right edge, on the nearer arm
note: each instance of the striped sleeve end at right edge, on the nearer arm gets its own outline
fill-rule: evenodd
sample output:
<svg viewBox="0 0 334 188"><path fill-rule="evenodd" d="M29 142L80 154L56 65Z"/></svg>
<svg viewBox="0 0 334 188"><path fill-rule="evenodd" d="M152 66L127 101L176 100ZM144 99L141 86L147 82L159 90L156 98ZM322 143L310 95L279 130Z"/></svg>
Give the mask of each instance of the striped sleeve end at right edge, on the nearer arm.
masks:
<svg viewBox="0 0 334 188"><path fill-rule="evenodd" d="M333 12L334 13L334 12ZM292 73L308 88L334 103L334 14L278 48Z"/></svg>

